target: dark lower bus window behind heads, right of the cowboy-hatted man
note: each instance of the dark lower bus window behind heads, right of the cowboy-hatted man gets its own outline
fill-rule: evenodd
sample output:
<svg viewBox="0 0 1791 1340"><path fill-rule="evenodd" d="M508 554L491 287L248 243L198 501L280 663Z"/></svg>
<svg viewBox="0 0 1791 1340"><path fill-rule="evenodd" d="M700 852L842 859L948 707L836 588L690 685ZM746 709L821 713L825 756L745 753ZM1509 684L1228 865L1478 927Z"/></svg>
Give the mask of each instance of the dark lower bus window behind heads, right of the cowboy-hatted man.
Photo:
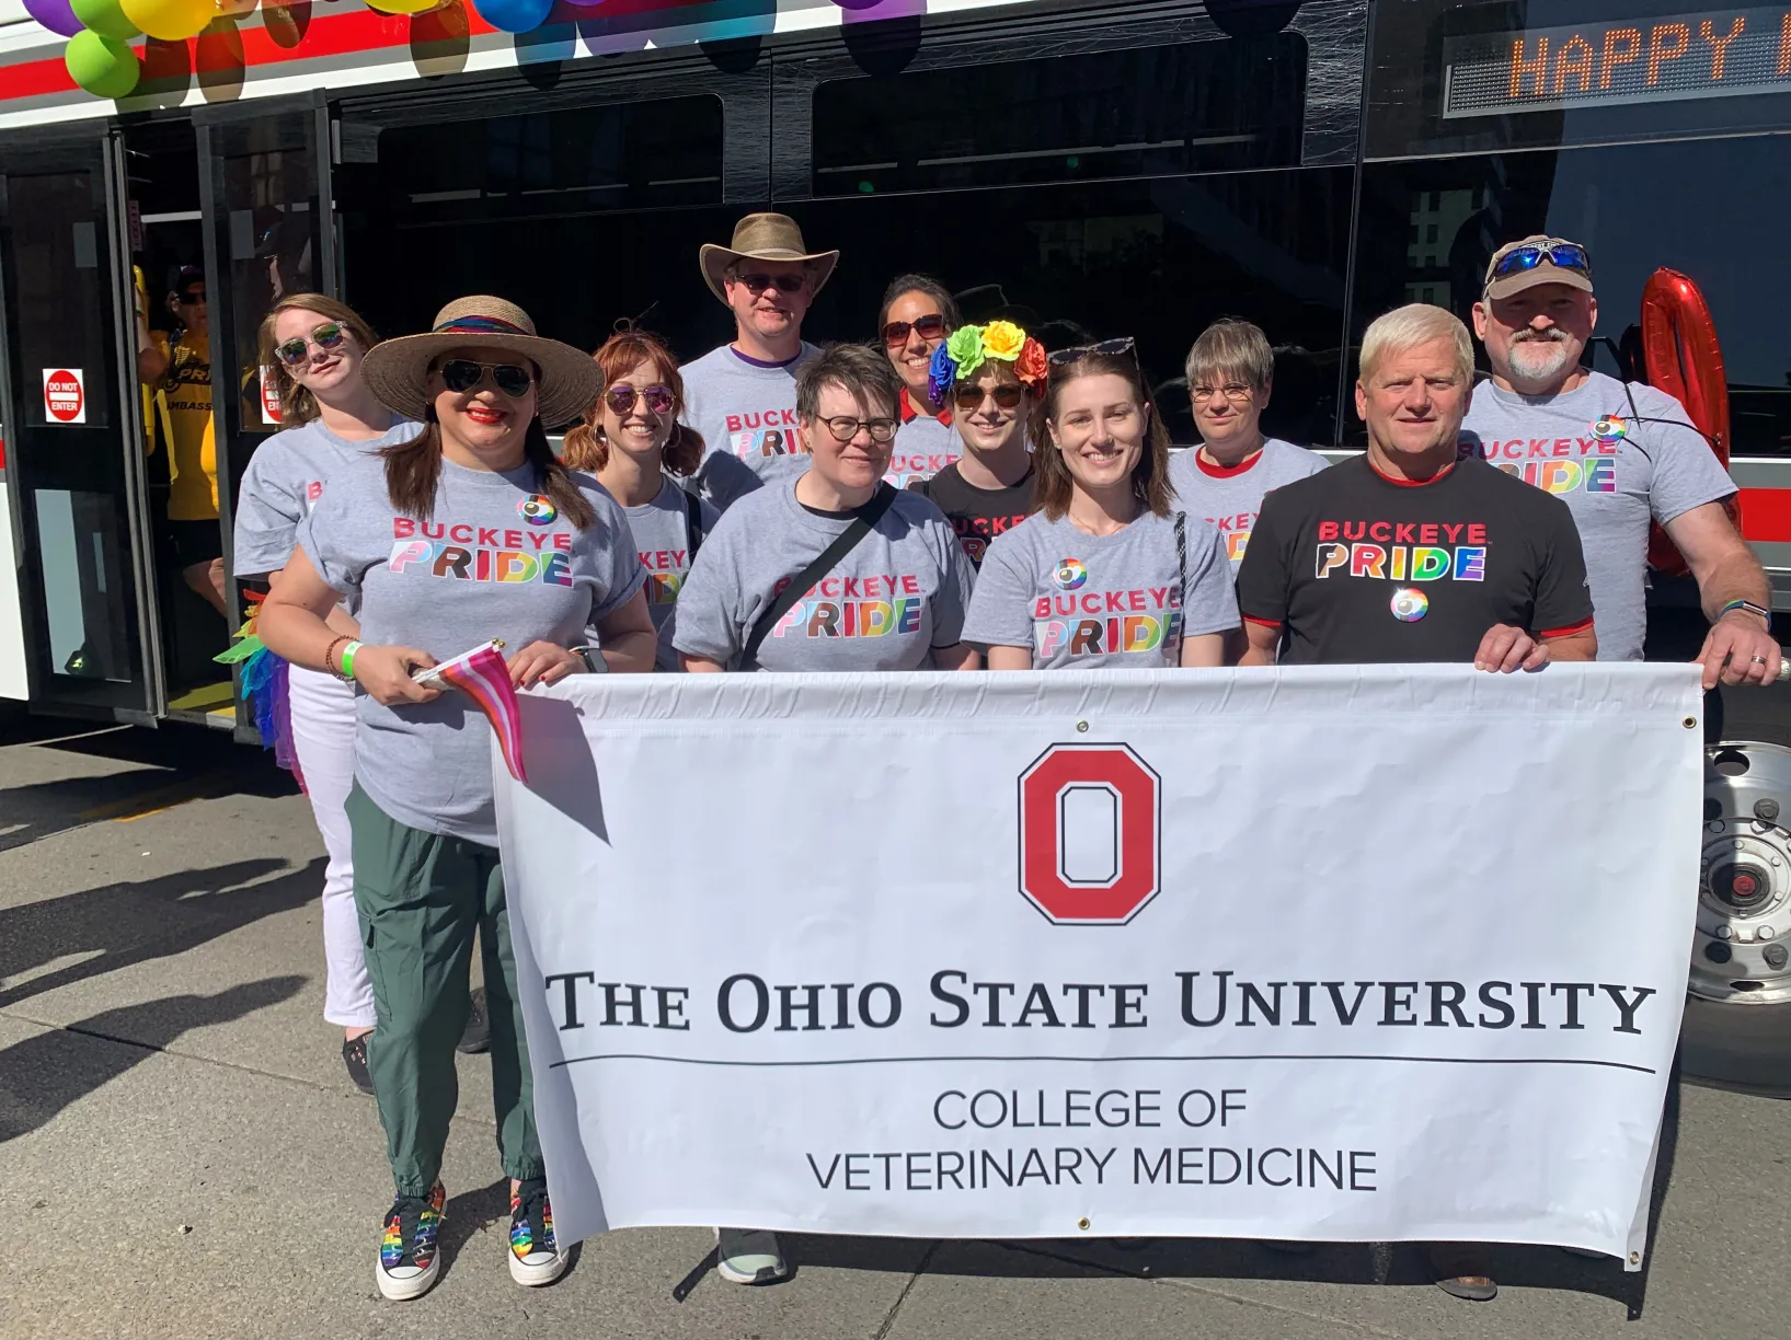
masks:
<svg viewBox="0 0 1791 1340"><path fill-rule="evenodd" d="M1304 168L786 208L811 245L845 252L810 313L815 338L870 338L883 284L922 270L960 295L965 320L1008 317L1050 347L1135 336L1171 438L1187 444L1187 345L1216 317L1247 317L1282 347L1264 424L1329 445L1350 177Z"/></svg>

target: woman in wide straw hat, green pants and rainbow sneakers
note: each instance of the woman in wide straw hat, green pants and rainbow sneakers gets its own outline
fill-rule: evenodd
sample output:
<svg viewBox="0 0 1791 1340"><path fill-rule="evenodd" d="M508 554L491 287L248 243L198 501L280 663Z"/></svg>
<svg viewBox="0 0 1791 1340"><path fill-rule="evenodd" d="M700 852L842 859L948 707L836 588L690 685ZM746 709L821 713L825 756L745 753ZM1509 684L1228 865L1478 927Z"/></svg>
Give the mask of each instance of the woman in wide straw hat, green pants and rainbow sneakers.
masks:
<svg viewBox="0 0 1791 1340"><path fill-rule="evenodd" d="M521 308L467 297L442 308L428 335L389 340L362 367L373 394L423 431L324 494L299 526L260 628L292 664L360 687L346 809L378 1018L367 1063L398 1192L374 1274L389 1299L419 1297L437 1277L446 1200L437 1174L476 929L510 1177L510 1276L548 1285L566 1259L553 1242L521 1045L491 732L469 698L412 674L437 664L435 653L493 637L514 648L519 687L596 669L650 671L645 574L614 499L548 445L546 426L578 419L602 390L586 354L539 338ZM360 639L326 623L349 590L360 594ZM589 626L602 651L577 646Z"/></svg>

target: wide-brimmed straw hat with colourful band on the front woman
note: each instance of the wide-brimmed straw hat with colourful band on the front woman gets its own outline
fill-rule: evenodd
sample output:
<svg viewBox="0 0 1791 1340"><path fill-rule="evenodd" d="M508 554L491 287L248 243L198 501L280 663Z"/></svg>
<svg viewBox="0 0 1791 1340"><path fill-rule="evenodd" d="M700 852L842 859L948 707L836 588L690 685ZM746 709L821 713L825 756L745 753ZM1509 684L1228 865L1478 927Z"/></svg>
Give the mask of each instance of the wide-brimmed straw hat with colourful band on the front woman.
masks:
<svg viewBox="0 0 1791 1340"><path fill-rule="evenodd" d="M435 326L426 335L376 343L367 351L362 376L381 404L423 422L430 410L423 390L430 363L450 349L480 349L489 351L489 358L510 354L534 363L543 428L582 419L604 392L604 372L589 354L559 340L543 340L527 311L501 297L485 295L455 299L435 313Z"/></svg>

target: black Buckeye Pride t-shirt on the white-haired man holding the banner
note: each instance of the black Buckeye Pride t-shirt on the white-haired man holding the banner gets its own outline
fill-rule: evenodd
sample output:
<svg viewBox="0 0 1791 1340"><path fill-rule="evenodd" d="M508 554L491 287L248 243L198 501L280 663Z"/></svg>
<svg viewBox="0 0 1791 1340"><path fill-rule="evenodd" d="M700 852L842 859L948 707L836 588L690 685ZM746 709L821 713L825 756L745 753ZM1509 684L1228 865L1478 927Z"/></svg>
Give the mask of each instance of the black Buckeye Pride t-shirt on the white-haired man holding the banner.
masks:
<svg viewBox="0 0 1791 1340"><path fill-rule="evenodd" d="M1238 606L1281 628L1284 666L1472 662L1494 624L1592 626L1567 505L1483 460L1413 485L1358 456L1282 485L1250 533Z"/></svg>

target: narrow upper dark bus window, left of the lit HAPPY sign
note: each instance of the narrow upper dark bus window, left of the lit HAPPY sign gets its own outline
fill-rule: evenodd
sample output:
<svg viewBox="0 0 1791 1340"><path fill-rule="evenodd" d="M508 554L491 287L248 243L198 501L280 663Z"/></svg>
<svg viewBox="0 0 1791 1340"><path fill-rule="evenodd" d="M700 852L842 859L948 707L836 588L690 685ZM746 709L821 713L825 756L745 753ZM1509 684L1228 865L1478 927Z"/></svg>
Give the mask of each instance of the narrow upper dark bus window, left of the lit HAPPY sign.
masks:
<svg viewBox="0 0 1791 1340"><path fill-rule="evenodd" d="M1295 165L1304 106L1297 32L835 79L813 193Z"/></svg>

